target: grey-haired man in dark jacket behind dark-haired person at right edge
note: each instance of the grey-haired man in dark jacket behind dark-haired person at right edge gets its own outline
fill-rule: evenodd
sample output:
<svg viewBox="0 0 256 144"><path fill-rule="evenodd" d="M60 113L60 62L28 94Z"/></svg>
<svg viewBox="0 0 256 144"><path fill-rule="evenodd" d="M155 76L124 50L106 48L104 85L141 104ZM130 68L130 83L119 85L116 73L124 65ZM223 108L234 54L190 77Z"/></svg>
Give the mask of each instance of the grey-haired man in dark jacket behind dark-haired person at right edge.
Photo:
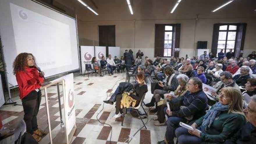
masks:
<svg viewBox="0 0 256 144"><path fill-rule="evenodd" d="M244 65L240 68L240 71L240 74L237 74L233 79L238 86L245 86L247 79L250 79L250 67Z"/></svg>

